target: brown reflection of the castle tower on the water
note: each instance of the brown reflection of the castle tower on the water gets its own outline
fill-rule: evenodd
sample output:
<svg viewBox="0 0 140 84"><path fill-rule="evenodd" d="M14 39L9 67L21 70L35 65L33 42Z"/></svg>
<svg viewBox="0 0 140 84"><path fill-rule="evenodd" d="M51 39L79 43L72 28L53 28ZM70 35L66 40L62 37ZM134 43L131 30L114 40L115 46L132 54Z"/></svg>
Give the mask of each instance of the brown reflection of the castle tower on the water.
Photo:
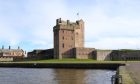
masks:
<svg viewBox="0 0 140 84"><path fill-rule="evenodd" d="M55 74L59 84L85 84L85 70L56 69Z"/></svg>

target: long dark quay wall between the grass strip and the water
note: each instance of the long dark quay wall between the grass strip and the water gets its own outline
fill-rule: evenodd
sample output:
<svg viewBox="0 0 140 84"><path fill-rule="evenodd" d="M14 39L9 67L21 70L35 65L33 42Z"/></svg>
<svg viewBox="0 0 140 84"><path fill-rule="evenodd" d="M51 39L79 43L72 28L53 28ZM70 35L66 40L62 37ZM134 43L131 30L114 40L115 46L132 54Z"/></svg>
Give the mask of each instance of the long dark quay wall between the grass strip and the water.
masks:
<svg viewBox="0 0 140 84"><path fill-rule="evenodd" d="M76 68L76 69L112 69L116 70L123 63L0 63L0 67L13 68Z"/></svg>

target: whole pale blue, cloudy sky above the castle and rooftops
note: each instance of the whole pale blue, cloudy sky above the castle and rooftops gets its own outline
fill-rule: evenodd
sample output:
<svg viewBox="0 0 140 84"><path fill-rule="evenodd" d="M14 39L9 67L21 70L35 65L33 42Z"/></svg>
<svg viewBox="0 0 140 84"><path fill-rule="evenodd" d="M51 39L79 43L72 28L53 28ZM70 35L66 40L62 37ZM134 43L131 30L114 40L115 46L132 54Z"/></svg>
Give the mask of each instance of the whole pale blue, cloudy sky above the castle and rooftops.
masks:
<svg viewBox="0 0 140 84"><path fill-rule="evenodd" d="M85 22L85 47L140 49L140 0L0 0L0 46L53 48L57 18Z"/></svg>

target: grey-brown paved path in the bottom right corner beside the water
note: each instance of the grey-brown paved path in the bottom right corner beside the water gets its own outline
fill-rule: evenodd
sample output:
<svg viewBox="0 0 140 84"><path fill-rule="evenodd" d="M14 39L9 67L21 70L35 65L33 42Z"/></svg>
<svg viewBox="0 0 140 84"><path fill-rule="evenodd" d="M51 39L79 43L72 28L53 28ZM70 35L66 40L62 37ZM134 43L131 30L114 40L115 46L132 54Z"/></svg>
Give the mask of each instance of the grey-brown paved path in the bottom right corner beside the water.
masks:
<svg viewBox="0 0 140 84"><path fill-rule="evenodd" d="M140 62L127 63L126 69L135 83L140 84Z"/></svg>

